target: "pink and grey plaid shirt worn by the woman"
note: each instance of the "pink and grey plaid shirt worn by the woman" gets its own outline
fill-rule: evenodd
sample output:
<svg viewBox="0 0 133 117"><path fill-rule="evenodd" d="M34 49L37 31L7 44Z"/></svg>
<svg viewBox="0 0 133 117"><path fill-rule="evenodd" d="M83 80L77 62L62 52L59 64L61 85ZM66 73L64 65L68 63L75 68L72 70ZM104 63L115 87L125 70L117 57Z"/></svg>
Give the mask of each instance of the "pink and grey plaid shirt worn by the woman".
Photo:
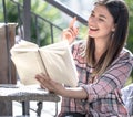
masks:
<svg viewBox="0 0 133 117"><path fill-rule="evenodd" d="M123 49L119 57L110 65L102 76L90 83L92 68L86 64L84 52L86 41L79 41L72 45L79 86L88 93L88 99L62 97L61 113L74 111L93 117L127 117L127 110L121 98L124 86L133 67L133 55Z"/></svg>

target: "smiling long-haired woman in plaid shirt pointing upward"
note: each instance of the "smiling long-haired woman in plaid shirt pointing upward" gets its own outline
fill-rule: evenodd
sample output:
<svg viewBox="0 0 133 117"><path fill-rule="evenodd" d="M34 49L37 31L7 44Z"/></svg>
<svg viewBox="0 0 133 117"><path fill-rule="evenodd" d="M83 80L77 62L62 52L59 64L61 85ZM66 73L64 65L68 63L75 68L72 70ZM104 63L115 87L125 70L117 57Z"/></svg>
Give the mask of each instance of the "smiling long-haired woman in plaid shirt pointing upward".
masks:
<svg viewBox="0 0 133 117"><path fill-rule="evenodd" d="M70 43L78 34L74 21L63 32ZM64 87L43 73L35 78L41 87L62 96L59 117L127 117L121 98L133 67L133 55L124 47L127 8L122 0L99 0L88 23L88 40L72 43L79 86Z"/></svg>

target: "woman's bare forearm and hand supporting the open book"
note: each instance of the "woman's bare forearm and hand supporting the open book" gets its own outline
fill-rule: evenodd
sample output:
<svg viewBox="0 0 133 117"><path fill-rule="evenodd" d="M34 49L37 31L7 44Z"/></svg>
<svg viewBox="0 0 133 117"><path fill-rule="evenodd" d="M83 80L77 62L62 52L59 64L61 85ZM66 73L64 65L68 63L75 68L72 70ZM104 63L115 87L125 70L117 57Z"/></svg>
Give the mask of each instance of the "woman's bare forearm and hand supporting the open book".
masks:
<svg viewBox="0 0 133 117"><path fill-rule="evenodd" d="M85 99L88 97L86 92L82 87L66 88L62 84L52 81L43 73L38 74L35 78L39 81L42 88L47 88L49 92L55 93L58 95L79 99Z"/></svg>

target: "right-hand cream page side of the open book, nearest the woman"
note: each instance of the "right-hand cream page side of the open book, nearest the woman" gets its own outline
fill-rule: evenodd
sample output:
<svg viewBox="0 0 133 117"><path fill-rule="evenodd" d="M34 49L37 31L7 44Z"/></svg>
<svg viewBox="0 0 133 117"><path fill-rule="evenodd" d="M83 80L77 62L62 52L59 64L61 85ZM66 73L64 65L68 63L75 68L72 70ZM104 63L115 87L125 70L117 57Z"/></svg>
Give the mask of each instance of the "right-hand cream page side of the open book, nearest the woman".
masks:
<svg viewBox="0 0 133 117"><path fill-rule="evenodd" d="M66 41L40 47L49 76L68 86L78 85L78 73Z"/></svg>

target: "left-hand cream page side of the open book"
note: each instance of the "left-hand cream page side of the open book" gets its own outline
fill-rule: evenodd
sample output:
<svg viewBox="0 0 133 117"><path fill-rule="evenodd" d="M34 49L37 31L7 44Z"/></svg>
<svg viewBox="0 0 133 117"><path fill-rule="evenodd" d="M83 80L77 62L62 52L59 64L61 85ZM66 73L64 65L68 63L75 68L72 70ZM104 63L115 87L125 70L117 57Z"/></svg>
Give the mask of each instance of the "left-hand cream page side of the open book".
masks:
<svg viewBox="0 0 133 117"><path fill-rule="evenodd" d="M35 75L44 73L37 45L22 42L14 45L10 51L20 82L24 85L39 84Z"/></svg>

